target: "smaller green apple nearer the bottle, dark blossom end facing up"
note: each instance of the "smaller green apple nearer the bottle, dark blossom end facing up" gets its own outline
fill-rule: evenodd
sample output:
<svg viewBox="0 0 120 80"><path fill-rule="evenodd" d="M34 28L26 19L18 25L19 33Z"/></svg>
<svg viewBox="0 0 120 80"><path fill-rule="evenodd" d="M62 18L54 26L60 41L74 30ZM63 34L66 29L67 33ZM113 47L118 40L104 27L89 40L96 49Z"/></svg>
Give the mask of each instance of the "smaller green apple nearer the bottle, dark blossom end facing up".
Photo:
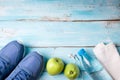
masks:
<svg viewBox="0 0 120 80"><path fill-rule="evenodd" d="M80 70L77 65L69 63L66 65L64 75L69 79L75 79L79 76Z"/></svg>

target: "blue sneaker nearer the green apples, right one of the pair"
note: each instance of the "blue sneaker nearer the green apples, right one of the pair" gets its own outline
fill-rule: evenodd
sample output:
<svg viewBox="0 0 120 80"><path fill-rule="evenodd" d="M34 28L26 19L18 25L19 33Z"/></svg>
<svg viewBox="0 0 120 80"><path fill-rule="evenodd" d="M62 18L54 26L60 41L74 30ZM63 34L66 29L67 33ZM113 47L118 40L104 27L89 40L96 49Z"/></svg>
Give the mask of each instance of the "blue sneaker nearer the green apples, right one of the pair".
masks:
<svg viewBox="0 0 120 80"><path fill-rule="evenodd" d="M37 80L43 66L43 56L29 53L5 80Z"/></svg>

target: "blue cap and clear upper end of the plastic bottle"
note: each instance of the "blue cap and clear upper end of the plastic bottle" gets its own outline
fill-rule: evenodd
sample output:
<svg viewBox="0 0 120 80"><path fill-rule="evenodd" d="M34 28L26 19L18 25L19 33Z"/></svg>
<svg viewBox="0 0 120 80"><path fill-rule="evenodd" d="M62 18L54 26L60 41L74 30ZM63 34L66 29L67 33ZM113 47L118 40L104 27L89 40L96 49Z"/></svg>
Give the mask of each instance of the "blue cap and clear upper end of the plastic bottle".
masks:
<svg viewBox="0 0 120 80"><path fill-rule="evenodd" d="M100 71L103 68L99 61L86 53L84 49L79 50L78 55L82 57L84 68L89 73Z"/></svg>

